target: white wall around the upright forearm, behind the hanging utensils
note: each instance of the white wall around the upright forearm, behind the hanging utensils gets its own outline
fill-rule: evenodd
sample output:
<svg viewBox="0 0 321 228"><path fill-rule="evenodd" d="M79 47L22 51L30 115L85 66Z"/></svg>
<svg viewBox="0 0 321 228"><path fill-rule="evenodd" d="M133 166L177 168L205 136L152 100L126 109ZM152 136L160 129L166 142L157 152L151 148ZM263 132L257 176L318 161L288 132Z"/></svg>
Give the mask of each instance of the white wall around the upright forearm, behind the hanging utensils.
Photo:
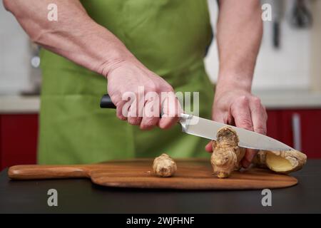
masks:
<svg viewBox="0 0 321 228"><path fill-rule="evenodd" d="M280 1L280 0L277 0ZM218 15L216 1L209 0L211 22L215 29ZM272 22L264 22L264 36L255 68L253 90L285 90L310 88L310 30L298 30L288 23L292 0L285 1L285 15L281 24L280 49L272 47ZM216 41L205 59L212 81L218 76Z"/></svg>

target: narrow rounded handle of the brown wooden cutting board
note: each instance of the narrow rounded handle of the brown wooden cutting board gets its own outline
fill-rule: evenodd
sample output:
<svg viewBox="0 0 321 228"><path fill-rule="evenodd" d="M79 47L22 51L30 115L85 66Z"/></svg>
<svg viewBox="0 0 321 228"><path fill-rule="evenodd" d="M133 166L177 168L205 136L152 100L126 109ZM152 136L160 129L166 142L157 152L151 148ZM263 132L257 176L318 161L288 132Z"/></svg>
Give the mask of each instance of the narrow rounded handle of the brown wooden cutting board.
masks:
<svg viewBox="0 0 321 228"><path fill-rule="evenodd" d="M86 165L15 165L8 175L14 180L89 177Z"/></svg>

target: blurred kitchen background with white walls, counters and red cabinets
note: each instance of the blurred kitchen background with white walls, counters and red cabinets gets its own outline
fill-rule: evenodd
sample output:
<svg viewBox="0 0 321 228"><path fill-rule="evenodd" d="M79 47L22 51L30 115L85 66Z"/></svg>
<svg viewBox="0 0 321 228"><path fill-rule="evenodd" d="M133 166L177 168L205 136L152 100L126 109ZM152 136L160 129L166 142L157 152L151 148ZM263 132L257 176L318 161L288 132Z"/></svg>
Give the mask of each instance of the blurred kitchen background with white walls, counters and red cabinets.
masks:
<svg viewBox="0 0 321 228"><path fill-rule="evenodd" d="M39 47L29 41L0 1L0 170L36 163ZM321 0L264 0L272 21L264 37L253 81L269 116L267 134L308 157L321 157ZM218 6L209 0L215 33ZM218 74L214 40L205 58L210 78Z"/></svg>

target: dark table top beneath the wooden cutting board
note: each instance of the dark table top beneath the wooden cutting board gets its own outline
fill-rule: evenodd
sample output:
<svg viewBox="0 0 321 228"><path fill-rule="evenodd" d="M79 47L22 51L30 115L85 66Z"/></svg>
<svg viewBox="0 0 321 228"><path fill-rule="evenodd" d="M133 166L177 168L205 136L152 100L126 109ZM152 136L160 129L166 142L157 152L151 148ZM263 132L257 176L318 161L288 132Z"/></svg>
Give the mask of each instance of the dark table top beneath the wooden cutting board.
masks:
<svg viewBox="0 0 321 228"><path fill-rule="evenodd" d="M90 180L13 181L0 174L1 213L321 213L321 160L308 160L292 175L299 184L272 190L263 207L260 190L178 191L101 187ZM49 189L58 207L49 207Z"/></svg>

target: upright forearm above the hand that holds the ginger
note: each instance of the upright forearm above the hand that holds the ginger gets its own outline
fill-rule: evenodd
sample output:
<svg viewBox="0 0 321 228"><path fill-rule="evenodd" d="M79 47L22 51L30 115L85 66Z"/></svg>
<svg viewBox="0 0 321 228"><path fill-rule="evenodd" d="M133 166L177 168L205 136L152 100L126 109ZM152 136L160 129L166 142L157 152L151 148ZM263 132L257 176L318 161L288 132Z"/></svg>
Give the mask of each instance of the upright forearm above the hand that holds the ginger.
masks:
<svg viewBox="0 0 321 228"><path fill-rule="evenodd" d="M250 91L263 33L260 1L221 0L218 16L221 87Z"/></svg>

